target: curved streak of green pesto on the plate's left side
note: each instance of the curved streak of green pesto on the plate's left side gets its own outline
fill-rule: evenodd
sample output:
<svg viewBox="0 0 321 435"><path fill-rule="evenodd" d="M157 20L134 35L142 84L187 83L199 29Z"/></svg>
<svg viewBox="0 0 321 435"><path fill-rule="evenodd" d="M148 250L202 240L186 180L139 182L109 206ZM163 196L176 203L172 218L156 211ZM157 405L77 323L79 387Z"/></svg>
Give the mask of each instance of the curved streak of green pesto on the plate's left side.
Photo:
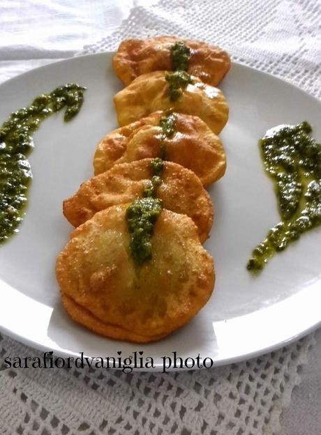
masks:
<svg viewBox="0 0 321 435"><path fill-rule="evenodd" d="M22 221L27 191L32 178L27 160L33 148L31 135L41 121L66 107L64 121L80 111L84 89L66 84L38 96L31 105L10 114L0 128L0 243L6 241Z"/></svg>

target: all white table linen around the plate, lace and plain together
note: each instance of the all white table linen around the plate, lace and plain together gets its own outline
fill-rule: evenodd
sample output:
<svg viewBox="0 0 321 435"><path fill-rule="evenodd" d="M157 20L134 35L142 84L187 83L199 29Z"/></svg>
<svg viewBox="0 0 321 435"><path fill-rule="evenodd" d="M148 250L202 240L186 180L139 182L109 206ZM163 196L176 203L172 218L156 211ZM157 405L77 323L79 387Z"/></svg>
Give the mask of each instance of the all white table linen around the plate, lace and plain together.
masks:
<svg viewBox="0 0 321 435"><path fill-rule="evenodd" d="M1 0L0 82L83 45L167 33L217 43L321 98L320 17L320 0ZM316 338L292 394L313 335L244 363L169 374L4 369L6 356L40 353L1 335L0 434L320 435Z"/></svg>

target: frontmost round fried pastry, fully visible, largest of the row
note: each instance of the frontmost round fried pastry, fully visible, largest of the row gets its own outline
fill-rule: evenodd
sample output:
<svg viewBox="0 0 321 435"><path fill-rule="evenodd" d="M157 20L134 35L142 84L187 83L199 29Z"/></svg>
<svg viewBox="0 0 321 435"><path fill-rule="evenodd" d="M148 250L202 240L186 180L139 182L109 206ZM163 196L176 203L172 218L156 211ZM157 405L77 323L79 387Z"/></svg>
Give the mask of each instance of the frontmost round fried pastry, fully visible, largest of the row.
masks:
<svg viewBox="0 0 321 435"><path fill-rule="evenodd" d="M66 311L100 335L152 342L183 326L214 287L214 264L193 220L163 209L154 224L152 259L130 256L126 207L100 211L80 225L57 259Z"/></svg>

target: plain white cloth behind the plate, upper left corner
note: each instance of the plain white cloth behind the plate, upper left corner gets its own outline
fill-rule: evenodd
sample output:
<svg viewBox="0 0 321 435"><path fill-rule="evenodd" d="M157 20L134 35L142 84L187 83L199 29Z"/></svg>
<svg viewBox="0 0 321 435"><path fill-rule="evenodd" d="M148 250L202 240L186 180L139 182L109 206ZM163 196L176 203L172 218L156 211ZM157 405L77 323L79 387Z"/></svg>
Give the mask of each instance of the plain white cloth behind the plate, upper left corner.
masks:
<svg viewBox="0 0 321 435"><path fill-rule="evenodd" d="M117 29L132 6L133 0L0 0L0 82L73 56Z"/></svg>

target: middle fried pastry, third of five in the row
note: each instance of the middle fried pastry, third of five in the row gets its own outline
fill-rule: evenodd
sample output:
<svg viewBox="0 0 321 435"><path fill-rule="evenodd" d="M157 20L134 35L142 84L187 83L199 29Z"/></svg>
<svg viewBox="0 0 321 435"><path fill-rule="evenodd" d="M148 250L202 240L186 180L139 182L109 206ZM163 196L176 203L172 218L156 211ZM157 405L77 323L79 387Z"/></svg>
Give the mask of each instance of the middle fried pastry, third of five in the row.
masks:
<svg viewBox="0 0 321 435"><path fill-rule="evenodd" d="M165 146L166 159L191 169L203 185L221 178L226 168L224 148L207 125L197 116L176 114L174 134L164 139L158 125L162 115L154 112L105 136L94 155L95 174L119 163L156 158Z"/></svg>

